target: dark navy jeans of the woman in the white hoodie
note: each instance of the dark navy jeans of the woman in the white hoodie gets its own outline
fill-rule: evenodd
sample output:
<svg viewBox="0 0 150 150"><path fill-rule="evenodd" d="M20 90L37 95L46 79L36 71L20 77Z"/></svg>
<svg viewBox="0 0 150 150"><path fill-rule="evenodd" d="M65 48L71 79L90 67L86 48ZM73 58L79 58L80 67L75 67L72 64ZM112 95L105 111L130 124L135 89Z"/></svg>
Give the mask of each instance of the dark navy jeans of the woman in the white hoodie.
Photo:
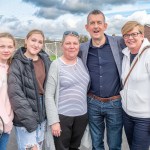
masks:
<svg viewBox="0 0 150 150"><path fill-rule="evenodd" d="M150 118L136 118L123 112L123 124L130 150L148 150Z"/></svg>

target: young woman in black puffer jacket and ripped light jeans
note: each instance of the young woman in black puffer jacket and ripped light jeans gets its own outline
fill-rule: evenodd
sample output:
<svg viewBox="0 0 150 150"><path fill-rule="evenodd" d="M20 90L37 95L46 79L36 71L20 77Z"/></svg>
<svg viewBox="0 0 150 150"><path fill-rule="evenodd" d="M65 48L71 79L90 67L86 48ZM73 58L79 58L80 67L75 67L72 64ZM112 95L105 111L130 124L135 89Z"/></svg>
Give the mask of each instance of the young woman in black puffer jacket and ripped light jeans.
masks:
<svg viewBox="0 0 150 150"><path fill-rule="evenodd" d="M44 39L42 31L30 31L10 67L8 94L19 150L42 149L46 119L44 90L50 66L49 57L42 50Z"/></svg>

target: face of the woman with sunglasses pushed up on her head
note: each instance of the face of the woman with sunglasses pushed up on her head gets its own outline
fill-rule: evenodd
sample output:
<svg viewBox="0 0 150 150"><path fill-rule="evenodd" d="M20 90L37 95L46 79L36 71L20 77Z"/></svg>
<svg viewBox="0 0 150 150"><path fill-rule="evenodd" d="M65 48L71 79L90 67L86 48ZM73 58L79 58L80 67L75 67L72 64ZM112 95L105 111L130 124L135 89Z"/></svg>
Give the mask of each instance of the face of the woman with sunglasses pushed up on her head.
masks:
<svg viewBox="0 0 150 150"><path fill-rule="evenodd" d="M74 35L66 35L62 43L63 56L66 60L76 59L79 52L79 39Z"/></svg>

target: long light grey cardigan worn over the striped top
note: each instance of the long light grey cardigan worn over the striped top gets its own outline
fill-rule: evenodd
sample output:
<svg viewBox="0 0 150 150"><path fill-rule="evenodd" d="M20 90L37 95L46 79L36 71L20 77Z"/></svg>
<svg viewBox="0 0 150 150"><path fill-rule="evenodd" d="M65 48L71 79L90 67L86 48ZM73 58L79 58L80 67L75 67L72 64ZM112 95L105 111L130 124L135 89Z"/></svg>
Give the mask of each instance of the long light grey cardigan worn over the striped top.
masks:
<svg viewBox="0 0 150 150"><path fill-rule="evenodd" d="M53 61L48 77L47 77L46 91L45 91L45 105L47 114L47 132L46 132L46 149L55 150L54 140L51 133L50 126L54 123L60 122L58 116L58 97L59 97L59 62L58 59ZM89 148L91 146L91 139L89 135L89 128L85 130L82 144L84 147Z"/></svg>

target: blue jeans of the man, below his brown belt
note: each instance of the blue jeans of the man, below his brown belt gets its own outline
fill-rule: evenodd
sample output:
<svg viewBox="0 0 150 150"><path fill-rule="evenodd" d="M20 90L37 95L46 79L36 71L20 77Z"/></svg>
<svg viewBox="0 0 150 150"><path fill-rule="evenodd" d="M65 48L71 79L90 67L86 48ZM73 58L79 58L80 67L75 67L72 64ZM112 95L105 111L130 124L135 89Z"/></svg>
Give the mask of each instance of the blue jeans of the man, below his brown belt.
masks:
<svg viewBox="0 0 150 150"><path fill-rule="evenodd" d="M88 97L88 115L92 138L92 150L105 149L105 126L109 150L121 150L123 126L121 99L101 102Z"/></svg>

